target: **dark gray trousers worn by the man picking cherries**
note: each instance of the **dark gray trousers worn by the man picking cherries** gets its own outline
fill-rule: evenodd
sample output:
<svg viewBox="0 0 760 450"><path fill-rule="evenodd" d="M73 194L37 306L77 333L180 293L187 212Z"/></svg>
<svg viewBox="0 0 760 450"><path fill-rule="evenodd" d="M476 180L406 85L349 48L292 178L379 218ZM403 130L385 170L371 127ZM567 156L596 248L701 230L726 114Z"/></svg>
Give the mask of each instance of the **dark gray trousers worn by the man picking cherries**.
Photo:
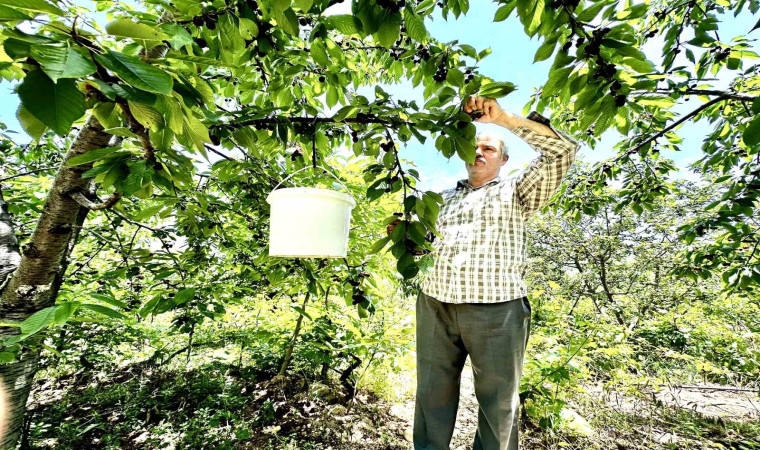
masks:
<svg viewBox="0 0 760 450"><path fill-rule="evenodd" d="M474 450L517 450L520 376L530 303L443 303L417 297L415 450L449 450L462 368L470 355L478 399Z"/></svg>

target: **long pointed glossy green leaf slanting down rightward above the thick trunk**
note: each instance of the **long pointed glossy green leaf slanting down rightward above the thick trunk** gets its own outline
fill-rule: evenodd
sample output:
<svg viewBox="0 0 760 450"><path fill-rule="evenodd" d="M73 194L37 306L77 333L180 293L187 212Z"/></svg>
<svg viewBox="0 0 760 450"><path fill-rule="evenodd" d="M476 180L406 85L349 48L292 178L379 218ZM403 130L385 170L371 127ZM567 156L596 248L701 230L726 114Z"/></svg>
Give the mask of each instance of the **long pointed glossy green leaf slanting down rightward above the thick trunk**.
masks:
<svg viewBox="0 0 760 450"><path fill-rule="evenodd" d="M138 89L166 95L172 92L171 75L138 58L108 50L108 53L96 54L95 59Z"/></svg>

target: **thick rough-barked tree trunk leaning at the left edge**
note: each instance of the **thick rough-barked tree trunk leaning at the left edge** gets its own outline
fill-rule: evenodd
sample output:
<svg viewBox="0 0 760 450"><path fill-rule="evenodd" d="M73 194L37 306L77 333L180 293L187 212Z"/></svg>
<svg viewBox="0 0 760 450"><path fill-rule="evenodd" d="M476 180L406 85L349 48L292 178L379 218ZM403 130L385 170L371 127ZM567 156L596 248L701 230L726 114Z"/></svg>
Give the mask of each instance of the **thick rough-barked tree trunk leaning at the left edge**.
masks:
<svg viewBox="0 0 760 450"><path fill-rule="evenodd" d="M91 179L81 177L92 164L67 167L65 163L90 150L107 147L110 139L111 135L103 131L94 117L90 117L63 159L34 234L21 249L20 258L15 236L9 237L13 235L10 217L7 213L0 216L0 273L8 274L7 268L13 265L13 242L16 242L15 258L18 260L15 271L7 275L7 284L0 292L0 320L23 321L55 302L66 257L73 247L72 236L78 233L77 226L81 227L87 215L87 210L82 211L69 194L88 193L92 183ZM16 328L0 328L0 338L16 333ZM0 380L8 400L4 408L8 417L7 428L0 436L0 448L13 448L18 441L38 360L38 351L28 351L20 356L19 361L0 365Z"/></svg>

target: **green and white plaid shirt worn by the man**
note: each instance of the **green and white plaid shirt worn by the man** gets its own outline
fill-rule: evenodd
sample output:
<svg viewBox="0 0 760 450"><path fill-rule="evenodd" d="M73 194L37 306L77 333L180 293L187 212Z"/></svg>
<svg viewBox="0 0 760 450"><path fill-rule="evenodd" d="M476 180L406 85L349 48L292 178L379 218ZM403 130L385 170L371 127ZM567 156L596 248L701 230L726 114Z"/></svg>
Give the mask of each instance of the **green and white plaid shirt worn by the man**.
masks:
<svg viewBox="0 0 760 450"><path fill-rule="evenodd" d="M536 112L528 119L548 125ZM525 221L557 190L570 168L577 142L526 127L512 130L541 155L515 177L496 177L473 188L468 180L441 192L444 204L432 253L435 263L420 285L446 303L498 303L527 295Z"/></svg>

